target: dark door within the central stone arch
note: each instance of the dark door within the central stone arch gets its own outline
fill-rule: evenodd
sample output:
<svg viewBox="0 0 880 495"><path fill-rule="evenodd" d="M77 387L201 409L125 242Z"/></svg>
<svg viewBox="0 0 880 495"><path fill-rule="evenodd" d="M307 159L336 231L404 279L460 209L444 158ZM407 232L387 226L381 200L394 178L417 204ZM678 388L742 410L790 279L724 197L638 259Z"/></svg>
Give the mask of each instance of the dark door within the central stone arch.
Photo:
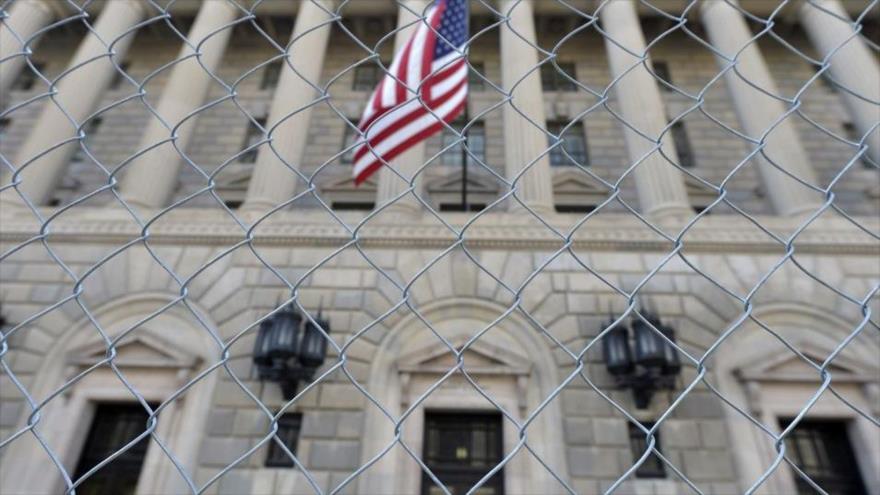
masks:
<svg viewBox="0 0 880 495"><path fill-rule="evenodd" d="M501 462L501 415L473 413L425 413L422 459L450 493L467 493ZM481 487L481 495L503 495L504 470ZM422 473L422 495L443 491Z"/></svg>

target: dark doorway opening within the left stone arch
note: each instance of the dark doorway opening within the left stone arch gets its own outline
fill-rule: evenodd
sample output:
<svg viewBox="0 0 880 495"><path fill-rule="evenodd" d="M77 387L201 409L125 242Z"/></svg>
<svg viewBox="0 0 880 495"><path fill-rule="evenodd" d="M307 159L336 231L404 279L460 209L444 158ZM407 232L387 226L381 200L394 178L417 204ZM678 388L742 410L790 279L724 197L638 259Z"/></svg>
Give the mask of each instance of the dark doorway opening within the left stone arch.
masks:
<svg viewBox="0 0 880 495"><path fill-rule="evenodd" d="M152 406L151 406L152 407ZM147 430L147 411L140 404L99 404L79 455L73 479L81 478L95 465L116 453ZM77 494L134 494L150 437L142 438L76 488Z"/></svg>

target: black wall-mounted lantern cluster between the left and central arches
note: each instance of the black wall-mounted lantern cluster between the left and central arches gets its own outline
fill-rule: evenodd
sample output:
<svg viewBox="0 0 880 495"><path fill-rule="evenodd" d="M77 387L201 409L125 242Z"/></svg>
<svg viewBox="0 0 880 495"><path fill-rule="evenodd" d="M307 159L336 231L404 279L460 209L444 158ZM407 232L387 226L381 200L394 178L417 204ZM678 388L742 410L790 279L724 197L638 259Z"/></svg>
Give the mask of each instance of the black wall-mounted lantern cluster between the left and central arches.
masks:
<svg viewBox="0 0 880 495"><path fill-rule="evenodd" d="M330 322L315 321L330 333ZM254 344L254 364L260 380L281 385L286 400L296 396L300 380L311 380L327 357L327 339L309 319L288 304L263 320Z"/></svg>

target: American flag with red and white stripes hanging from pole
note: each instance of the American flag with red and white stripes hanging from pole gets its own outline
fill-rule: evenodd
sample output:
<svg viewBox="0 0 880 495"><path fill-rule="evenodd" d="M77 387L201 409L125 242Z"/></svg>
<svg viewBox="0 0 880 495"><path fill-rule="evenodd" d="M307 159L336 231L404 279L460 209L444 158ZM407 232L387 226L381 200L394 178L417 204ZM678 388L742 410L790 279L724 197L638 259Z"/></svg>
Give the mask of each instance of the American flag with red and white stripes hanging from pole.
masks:
<svg viewBox="0 0 880 495"><path fill-rule="evenodd" d="M461 113L467 99L467 38L467 0L436 0L364 109L358 124L363 137L353 160L356 184L442 129L439 119L452 122Z"/></svg>

